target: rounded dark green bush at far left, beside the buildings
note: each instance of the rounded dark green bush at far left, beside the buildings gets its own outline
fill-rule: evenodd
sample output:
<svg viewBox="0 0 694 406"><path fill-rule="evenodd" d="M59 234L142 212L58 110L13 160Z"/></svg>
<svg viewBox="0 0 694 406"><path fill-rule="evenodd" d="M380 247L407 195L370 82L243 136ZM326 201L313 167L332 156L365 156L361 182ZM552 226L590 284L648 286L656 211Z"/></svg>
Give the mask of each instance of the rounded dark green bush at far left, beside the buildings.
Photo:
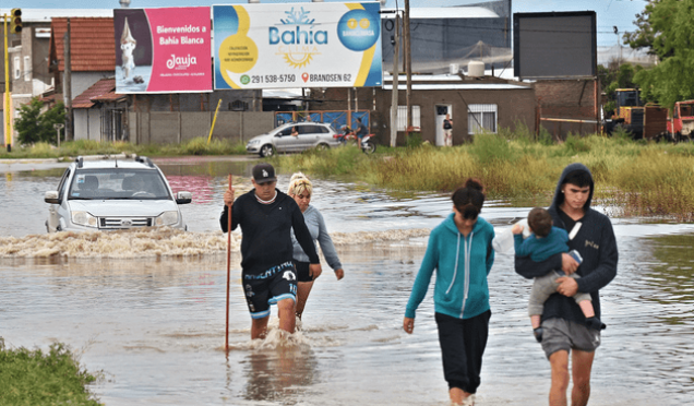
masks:
<svg viewBox="0 0 694 406"><path fill-rule="evenodd" d="M62 103L57 103L56 106L41 114L43 108L44 103L37 97L20 107L20 117L14 122L14 128L21 144L57 143L53 124L65 121L65 108ZM61 134L60 139L64 140L64 133Z"/></svg>

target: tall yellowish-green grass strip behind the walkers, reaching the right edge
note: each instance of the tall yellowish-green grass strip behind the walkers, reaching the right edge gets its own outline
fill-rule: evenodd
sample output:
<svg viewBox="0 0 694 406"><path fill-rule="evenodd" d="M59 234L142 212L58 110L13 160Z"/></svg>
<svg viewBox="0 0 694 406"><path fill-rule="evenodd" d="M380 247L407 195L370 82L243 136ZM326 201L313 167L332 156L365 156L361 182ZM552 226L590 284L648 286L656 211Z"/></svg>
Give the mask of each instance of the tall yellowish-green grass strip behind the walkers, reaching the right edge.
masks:
<svg viewBox="0 0 694 406"><path fill-rule="evenodd" d="M595 199L611 205L612 213L694 220L694 144L634 142L625 135L570 135L563 143L548 143L529 132L500 130L460 146L384 150L367 156L336 148L275 163L321 176L352 174L396 190L452 191L472 177L492 199L551 199L563 168L583 163L595 178Z"/></svg>

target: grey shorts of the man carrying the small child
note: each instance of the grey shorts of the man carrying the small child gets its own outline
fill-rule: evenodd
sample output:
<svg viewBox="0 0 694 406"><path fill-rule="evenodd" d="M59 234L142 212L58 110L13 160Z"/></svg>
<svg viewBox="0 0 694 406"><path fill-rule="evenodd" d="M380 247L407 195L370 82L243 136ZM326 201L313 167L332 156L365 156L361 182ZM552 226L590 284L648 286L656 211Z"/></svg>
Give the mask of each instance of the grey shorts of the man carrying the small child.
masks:
<svg viewBox="0 0 694 406"><path fill-rule="evenodd" d="M549 319L542 322L542 349L549 357L559 351L571 349L593 353L600 346L600 331L567 321L564 319Z"/></svg>

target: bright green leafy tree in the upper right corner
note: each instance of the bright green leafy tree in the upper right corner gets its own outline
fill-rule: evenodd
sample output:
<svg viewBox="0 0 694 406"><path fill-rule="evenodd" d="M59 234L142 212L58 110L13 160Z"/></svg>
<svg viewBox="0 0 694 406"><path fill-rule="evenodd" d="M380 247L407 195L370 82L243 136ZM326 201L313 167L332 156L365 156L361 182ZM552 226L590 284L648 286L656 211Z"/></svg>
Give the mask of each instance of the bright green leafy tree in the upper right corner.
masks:
<svg viewBox="0 0 694 406"><path fill-rule="evenodd" d="M670 108L694 98L694 0L650 0L636 17L638 29L626 33L625 43L660 60L634 75L642 98Z"/></svg>

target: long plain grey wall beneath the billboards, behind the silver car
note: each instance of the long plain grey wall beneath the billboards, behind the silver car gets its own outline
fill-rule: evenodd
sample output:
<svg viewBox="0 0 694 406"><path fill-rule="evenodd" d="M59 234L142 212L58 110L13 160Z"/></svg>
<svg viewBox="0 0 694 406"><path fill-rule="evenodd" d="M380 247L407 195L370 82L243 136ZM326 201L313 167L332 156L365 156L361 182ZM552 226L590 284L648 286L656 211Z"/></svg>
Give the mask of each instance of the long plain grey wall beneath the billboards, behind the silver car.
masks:
<svg viewBox="0 0 694 406"><path fill-rule="evenodd" d="M207 138L214 112L129 112L130 142L134 144L184 143ZM272 111L219 111L212 138L247 141L274 128Z"/></svg>

